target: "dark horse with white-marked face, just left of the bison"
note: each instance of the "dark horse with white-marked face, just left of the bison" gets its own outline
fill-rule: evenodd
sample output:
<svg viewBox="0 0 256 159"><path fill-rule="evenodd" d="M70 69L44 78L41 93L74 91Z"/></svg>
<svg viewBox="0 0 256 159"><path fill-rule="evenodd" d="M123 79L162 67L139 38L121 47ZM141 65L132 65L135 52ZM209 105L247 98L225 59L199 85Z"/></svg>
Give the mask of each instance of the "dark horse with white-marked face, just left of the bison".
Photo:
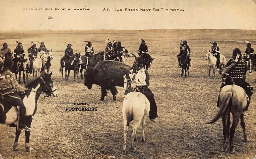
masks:
<svg viewBox="0 0 256 159"><path fill-rule="evenodd" d="M68 63L65 64L65 61L61 58L60 59L60 72L61 77L63 77L63 67L65 66L65 78L68 80L70 70L74 71L74 80L76 81L76 71L77 66L82 64L82 59L80 53L74 54L70 59L68 60ZM68 70L68 76L67 76L67 70Z"/></svg>

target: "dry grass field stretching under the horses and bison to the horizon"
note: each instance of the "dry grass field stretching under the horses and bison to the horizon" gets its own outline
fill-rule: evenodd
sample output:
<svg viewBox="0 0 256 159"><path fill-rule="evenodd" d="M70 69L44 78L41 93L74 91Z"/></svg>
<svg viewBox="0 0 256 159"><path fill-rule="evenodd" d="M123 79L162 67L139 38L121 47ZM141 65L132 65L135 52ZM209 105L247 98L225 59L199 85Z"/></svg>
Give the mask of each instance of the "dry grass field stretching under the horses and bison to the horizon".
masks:
<svg viewBox="0 0 256 159"><path fill-rule="evenodd" d="M27 50L29 41L44 41L52 49L52 79L58 89L58 97L38 100L37 112L32 121L30 143L34 148L25 151L25 133L19 139L19 151L14 152L15 128L0 125L0 154L3 158L248 158L255 156L255 94L249 107L249 117L245 117L246 132L249 142L243 142L240 124L234 137L234 154L221 152L223 134L222 123L205 125L218 111L216 107L219 94L219 74L216 79L208 79L205 49L210 49L209 41L214 40L220 47L221 54L227 61L232 50L240 48L244 53L244 40L252 40L255 47L255 31L244 30L170 30L170 32L150 31L140 33L116 34L47 34L47 35L2 35L0 44L8 43L13 49L15 41L22 42ZM21 37L20 39L16 39ZM5 38L5 39L4 39ZM74 52L84 54L84 40L92 42L96 52L105 50L107 39L121 41L130 52L139 49L142 38L148 45L149 54L155 58L148 69L149 88L155 94L158 107L158 122L146 119L146 141L137 141L136 153L127 151L122 155L123 115L122 102L124 94L118 87L117 101L112 100L108 92L104 102L100 99L100 87L93 85L91 90L84 86L79 78L74 82L73 71L69 80L61 79L59 73L60 58L68 43ZM190 76L180 77L177 68L177 54L180 49L179 39L188 41L191 49ZM38 44L39 45L39 44ZM37 47L39 47L37 45ZM27 56L27 55L26 55ZM134 59L126 63L132 65ZM80 75L79 75L80 76ZM30 77L31 78L31 77ZM255 72L247 76L247 81L255 88ZM74 102L90 102L89 105L73 105ZM66 107L97 107L98 111L65 111ZM83 115L80 115L83 114ZM232 118L231 118L232 120ZM129 127L130 128L130 127ZM131 130L131 129L129 129ZM140 140L141 126L137 131ZM130 148L130 131L127 138ZM229 149L229 148L228 148Z"/></svg>

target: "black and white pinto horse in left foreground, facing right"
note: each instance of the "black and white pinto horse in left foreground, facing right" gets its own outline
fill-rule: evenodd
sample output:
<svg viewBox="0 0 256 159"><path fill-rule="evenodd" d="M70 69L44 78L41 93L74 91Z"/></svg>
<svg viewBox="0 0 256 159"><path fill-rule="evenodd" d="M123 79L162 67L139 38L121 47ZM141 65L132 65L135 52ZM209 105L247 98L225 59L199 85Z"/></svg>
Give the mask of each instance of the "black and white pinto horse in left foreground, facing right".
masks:
<svg viewBox="0 0 256 159"><path fill-rule="evenodd" d="M20 95L20 98L23 100L23 103L26 107L26 125L28 127L31 127L31 122L33 119L33 116L36 113L37 109L37 100L39 99L41 94L46 94L46 96L53 95L53 97L56 97L58 92L53 84L53 81L51 79L52 73L48 74L42 74L40 77L36 77L32 79L32 81L28 82L25 87L28 88L27 91L25 91L24 94ZM42 93L43 92L43 93ZM13 105L8 105L7 102L4 102L3 99L0 100L0 123L9 125L17 122L17 107ZM14 125L14 124L13 124ZM18 140L20 136L20 131L16 128L16 137L13 144L13 150L18 150ZM25 148L29 152L33 148L30 146L29 136L30 131L25 131Z"/></svg>

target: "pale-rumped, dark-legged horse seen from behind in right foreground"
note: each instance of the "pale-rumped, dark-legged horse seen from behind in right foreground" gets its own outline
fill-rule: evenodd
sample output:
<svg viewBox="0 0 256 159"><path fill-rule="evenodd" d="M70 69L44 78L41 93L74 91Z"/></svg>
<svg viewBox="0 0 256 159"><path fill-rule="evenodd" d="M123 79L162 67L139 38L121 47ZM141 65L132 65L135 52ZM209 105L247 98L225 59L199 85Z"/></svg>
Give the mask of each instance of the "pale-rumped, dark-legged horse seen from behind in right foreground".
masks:
<svg viewBox="0 0 256 159"><path fill-rule="evenodd" d="M241 119L241 126L244 132L244 141L246 142L247 135L245 133L245 122L244 122L244 114L243 111L246 107L247 99L245 91L242 87L237 85L226 85L220 90L220 110L216 113L215 117L211 120L205 122L205 124L212 124L217 121L220 117L222 119L223 124L223 152L226 152L227 146L227 138L230 135L229 148L230 153L234 153L235 150L233 145L234 134L236 126L239 122L239 118ZM233 116L232 126L230 127L230 112Z"/></svg>

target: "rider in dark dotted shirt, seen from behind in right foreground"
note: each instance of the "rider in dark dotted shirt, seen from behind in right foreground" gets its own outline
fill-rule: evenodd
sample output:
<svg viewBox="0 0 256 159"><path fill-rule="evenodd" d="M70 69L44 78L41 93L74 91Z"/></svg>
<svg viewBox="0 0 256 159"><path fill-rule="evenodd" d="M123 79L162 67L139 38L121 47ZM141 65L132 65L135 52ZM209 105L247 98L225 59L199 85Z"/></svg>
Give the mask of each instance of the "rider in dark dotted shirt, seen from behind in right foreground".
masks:
<svg viewBox="0 0 256 159"><path fill-rule="evenodd" d="M228 61L221 75L222 77L226 76L226 80L222 82L220 89L225 85L235 84L245 90L247 105L244 111L247 111L250 105L253 88L249 83L245 82L246 63L243 61L241 51L238 48L233 50L232 59ZM225 79L225 77L223 79ZM220 96L218 97L217 107L219 107L219 98Z"/></svg>

